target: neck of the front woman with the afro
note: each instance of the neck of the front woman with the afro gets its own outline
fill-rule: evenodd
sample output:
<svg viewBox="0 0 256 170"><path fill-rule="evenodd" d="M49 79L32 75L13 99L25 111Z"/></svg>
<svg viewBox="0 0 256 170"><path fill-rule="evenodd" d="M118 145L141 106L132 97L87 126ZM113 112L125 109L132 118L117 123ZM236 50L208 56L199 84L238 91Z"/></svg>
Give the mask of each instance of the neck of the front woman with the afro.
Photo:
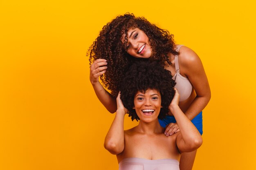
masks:
<svg viewBox="0 0 256 170"><path fill-rule="evenodd" d="M164 132L164 128L160 126L158 119L153 122L139 121L137 130L145 134L159 134Z"/></svg>

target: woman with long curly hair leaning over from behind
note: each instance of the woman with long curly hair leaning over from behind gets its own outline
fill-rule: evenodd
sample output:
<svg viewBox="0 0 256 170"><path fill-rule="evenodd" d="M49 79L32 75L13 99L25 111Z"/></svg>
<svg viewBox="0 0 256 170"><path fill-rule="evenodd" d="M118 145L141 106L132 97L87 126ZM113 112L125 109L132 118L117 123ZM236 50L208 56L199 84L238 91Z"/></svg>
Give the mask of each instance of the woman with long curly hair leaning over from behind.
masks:
<svg viewBox="0 0 256 170"><path fill-rule="evenodd" d="M179 107L202 135L202 110L211 98L211 91L202 62L186 46L175 44L167 30L151 24L144 17L126 13L103 26L90 46L90 82L94 91L110 113L117 110L116 97L129 66L137 60L155 60L171 71L180 93ZM101 85L110 90L110 93ZM160 120L164 134L172 136L179 131L175 118L168 113ZM183 153L181 170L191 170L196 150Z"/></svg>

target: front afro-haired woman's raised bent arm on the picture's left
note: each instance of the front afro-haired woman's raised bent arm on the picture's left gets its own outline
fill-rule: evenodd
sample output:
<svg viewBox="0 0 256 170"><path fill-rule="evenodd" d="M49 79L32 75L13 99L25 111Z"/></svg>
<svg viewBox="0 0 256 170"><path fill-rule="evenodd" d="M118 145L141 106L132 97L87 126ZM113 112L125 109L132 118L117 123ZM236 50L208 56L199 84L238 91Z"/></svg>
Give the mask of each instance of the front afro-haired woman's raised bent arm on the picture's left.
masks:
<svg viewBox="0 0 256 170"><path fill-rule="evenodd" d="M124 150L124 115L126 111L120 99L120 93L117 96L117 113L115 119L108 130L105 138L104 147L110 153L117 155Z"/></svg>

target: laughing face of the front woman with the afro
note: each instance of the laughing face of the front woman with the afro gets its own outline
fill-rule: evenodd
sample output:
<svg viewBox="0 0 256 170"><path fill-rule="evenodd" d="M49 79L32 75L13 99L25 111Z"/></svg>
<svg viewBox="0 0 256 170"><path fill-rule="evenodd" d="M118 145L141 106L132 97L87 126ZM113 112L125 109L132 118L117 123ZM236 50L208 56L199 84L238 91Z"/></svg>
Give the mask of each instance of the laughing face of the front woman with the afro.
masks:
<svg viewBox="0 0 256 170"><path fill-rule="evenodd" d="M137 92L134 97L134 109L141 121L155 121L161 110L161 95L155 89L148 89L146 93Z"/></svg>

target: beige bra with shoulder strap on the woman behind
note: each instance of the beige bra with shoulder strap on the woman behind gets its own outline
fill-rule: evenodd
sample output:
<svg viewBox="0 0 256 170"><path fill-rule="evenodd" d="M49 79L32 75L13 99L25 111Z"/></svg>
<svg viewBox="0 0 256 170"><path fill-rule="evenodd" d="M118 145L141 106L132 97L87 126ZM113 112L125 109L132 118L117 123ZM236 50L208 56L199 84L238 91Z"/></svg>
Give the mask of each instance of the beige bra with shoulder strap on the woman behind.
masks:
<svg viewBox="0 0 256 170"><path fill-rule="evenodd" d="M179 51L181 46L183 45L178 45L176 51ZM182 102L191 95L192 84L187 77L183 77L180 74L178 55L175 55L175 70L176 73L173 75L173 80L176 82L175 88L180 93L180 102Z"/></svg>

